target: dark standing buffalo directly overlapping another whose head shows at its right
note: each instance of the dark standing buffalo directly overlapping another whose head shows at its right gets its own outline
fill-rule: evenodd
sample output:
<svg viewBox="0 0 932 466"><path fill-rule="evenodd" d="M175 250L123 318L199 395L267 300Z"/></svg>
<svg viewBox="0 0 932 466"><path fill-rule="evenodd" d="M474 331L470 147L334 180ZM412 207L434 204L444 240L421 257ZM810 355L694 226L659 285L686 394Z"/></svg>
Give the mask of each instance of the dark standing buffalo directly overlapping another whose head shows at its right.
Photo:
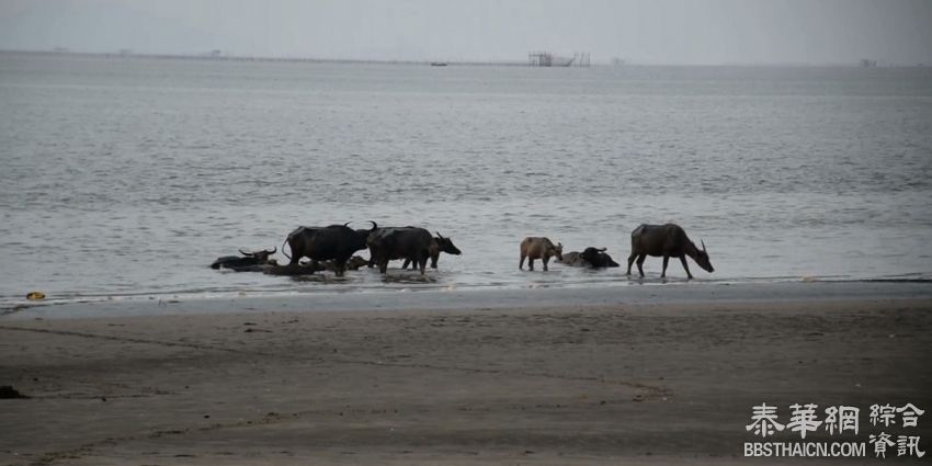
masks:
<svg viewBox="0 0 932 466"><path fill-rule="evenodd" d="M433 238L430 231L418 227L379 228L368 237L370 262L386 273L388 262L395 259L409 259L421 269L421 275L428 265Z"/></svg>

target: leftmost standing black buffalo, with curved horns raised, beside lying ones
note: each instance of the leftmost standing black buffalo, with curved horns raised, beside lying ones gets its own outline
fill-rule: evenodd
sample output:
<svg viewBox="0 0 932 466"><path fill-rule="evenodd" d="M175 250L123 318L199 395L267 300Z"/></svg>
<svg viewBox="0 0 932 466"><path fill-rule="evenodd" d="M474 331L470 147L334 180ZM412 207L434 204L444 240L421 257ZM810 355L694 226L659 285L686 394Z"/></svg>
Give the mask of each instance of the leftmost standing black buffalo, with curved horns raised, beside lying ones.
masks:
<svg viewBox="0 0 932 466"><path fill-rule="evenodd" d="M318 262L332 260L337 276L343 276L346 261L354 252L366 248L370 234L378 227L375 221L372 221L372 228L367 230L354 230L348 225L298 227L292 231L285 239L292 250L288 265L297 264L302 258L308 258L310 273L314 273Z"/></svg>

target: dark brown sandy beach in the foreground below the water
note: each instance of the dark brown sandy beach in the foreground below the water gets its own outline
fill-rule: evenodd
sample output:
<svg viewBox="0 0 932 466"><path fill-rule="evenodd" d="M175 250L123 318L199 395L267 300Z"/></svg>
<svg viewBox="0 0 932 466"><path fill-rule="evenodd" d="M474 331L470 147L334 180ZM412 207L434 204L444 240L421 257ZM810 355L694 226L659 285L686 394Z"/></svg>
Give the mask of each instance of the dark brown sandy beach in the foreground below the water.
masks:
<svg viewBox="0 0 932 466"><path fill-rule="evenodd" d="M668 286L471 308L25 309L0 318L0 385L31 397L0 399L0 464L746 463L745 425L764 401L932 406L929 287L876 286L873 298L712 286L646 298L689 289ZM923 442L927 421L912 430Z"/></svg>

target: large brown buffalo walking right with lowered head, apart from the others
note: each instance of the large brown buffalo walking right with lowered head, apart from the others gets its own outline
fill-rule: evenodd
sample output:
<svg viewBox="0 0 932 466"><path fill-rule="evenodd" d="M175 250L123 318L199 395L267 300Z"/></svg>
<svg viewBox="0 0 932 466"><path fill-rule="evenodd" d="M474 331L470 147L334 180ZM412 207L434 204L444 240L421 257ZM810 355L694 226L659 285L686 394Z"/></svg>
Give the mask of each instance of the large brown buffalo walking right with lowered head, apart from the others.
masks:
<svg viewBox="0 0 932 466"><path fill-rule="evenodd" d="M693 258L698 266L703 268L706 272L712 273L715 271L712 262L708 261L705 242L702 243L702 250L700 250L679 225L641 225L635 228L632 231L632 254L628 257L627 274L632 274L632 264L635 258L637 258L637 270L640 272L640 276L644 276L641 265L648 255L663 258L663 271L660 273L661 279L667 276L667 262L671 257L680 258L680 262L683 263L683 269L686 271L686 276L690 279L693 277L693 274L690 273L686 255Z"/></svg>

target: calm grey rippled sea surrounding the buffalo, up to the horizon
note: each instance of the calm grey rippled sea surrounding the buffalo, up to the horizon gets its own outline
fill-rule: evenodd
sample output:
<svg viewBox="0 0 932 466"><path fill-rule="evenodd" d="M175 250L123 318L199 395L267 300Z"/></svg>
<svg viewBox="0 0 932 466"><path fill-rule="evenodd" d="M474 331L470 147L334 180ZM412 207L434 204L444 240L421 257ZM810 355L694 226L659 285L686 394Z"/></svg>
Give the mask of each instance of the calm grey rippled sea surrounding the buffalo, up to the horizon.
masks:
<svg viewBox="0 0 932 466"><path fill-rule="evenodd" d="M932 279L932 69L428 67L0 54L0 304L637 284L518 243L641 223L697 282ZM298 225L419 225L425 279L217 272ZM362 252L367 257L367 252ZM279 254L281 258L281 254ZM400 265L400 264L398 264ZM397 266L397 265L396 265ZM647 283L660 260L648 259ZM670 277L684 272L671 261ZM694 282L695 283L695 282Z"/></svg>

